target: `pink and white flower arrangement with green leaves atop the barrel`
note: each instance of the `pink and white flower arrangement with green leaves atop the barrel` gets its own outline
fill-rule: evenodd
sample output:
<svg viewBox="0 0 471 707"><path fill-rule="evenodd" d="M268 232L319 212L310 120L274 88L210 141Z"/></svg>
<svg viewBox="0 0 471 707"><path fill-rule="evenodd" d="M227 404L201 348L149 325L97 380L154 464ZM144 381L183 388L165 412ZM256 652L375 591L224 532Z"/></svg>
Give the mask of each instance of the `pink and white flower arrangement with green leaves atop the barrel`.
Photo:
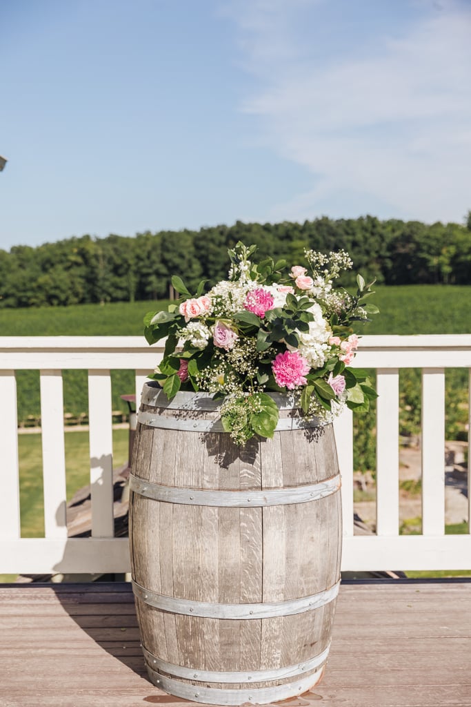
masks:
<svg viewBox="0 0 471 707"><path fill-rule="evenodd" d="M289 392L304 415L328 422L347 405L369 409L376 397L366 373L348 368L358 346L354 322L369 321L378 309L357 275L357 292L335 289L333 281L352 267L340 250L329 255L306 250L309 266L266 258L255 264L256 246L229 250L227 281L193 295L181 278L181 295L168 311L144 318L149 344L167 337L161 363L150 378L171 399L179 390L223 397L222 426L235 443L272 437L278 407L268 392Z"/></svg>

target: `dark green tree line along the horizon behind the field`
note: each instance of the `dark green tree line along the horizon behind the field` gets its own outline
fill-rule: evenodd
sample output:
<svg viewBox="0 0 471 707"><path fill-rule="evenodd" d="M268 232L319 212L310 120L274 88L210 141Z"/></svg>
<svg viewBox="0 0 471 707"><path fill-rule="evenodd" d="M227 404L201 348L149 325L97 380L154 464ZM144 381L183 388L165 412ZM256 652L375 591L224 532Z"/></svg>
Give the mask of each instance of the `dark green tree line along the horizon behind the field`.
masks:
<svg viewBox="0 0 471 707"><path fill-rule="evenodd" d="M189 288L225 279L227 249L255 243L258 255L304 262L304 249L347 250L354 271L380 284L471 284L471 211L467 223L374 216L304 223L242 223L133 237L90 235L0 250L0 308L155 300L169 297L172 275ZM348 274L343 284L352 282Z"/></svg>

